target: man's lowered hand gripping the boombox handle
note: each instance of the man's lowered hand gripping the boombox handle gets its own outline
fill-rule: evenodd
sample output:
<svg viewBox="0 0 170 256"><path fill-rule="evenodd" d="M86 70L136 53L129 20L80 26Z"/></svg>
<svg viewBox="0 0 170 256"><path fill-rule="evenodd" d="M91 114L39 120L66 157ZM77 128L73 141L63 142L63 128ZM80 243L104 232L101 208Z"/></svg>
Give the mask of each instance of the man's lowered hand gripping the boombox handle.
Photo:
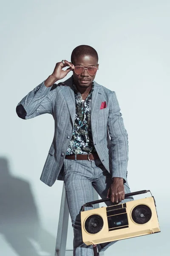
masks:
<svg viewBox="0 0 170 256"><path fill-rule="evenodd" d="M123 178L113 178L113 183L108 189L107 198L111 198L112 203L120 203L122 200L125 199Z"/></svg>

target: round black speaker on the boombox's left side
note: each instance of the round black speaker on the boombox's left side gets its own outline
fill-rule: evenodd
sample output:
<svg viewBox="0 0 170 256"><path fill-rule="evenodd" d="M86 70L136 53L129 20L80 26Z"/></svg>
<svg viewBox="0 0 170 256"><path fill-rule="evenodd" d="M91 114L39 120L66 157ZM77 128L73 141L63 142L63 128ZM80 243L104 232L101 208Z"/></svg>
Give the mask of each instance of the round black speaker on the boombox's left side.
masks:
<svg viewBox="0 0 170 256"><path fill-rule="evenodd" d="M100 215L93 214L85 221L85 230L90 234L98 233L103 227L103 219Z"/></svg>

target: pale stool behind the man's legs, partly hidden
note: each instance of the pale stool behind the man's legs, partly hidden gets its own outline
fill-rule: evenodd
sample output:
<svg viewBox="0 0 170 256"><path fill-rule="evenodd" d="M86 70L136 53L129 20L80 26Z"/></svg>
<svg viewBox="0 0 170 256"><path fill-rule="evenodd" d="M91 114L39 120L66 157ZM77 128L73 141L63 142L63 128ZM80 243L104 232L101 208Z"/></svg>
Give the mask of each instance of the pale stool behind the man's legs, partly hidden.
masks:
<svg viewBox="0 0 170 256"><path fill-rule="evenodd" d="M94 201L98 200L99 196L95 189L93 189L93 194L94 194ZM94 209L95 208L99 208L99 204L94 204ZM68 204L67 204L67 199L65 195L65 186L63 183L55 256L73 256L73 250L66 250L68 219L69 219L69 210L68 210ZM100 256L104 256L104 252L100 252Z"/></svg>

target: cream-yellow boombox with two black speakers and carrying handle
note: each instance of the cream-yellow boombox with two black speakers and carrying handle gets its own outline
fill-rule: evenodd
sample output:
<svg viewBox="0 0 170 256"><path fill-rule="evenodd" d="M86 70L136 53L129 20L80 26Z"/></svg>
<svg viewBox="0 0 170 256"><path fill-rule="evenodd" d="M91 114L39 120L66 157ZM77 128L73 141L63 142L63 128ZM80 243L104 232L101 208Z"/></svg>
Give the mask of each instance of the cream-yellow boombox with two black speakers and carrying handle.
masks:
<svg viewBox="0 0 170 256"><path fill-rule="evenodd" d="M146 192L150 190L128 193L125 198ZM109 200L106 198L82 206L82 239L85 244L100 244L160 232L153 196L85 211L87 206Z"/></svg>

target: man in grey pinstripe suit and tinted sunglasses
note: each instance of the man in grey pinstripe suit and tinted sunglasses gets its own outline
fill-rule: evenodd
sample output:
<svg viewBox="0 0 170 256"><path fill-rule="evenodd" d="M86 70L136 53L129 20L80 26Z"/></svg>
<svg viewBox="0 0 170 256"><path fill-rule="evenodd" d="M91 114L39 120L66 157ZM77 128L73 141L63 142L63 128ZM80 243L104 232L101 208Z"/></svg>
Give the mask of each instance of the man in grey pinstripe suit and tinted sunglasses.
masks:
<svg viewBox="0 0 170 256"><path fill-rule="evenodd" d="M68 67L67 70L62 70ZM50 113L55 120L51 144L40 179L48 186L64 180L74 228L74 256L92 256L93 247L82 242L80 209L93 201L92 186L101 198L124 203L127 183L128 137L116 93L94 81L99 69L93 47L80 45L71 62L58 62L53 73L17 105L20 118ZM73 76L64 82L70 71ZM91 209L91 208L89 208ZM105 250L112 243L98 244Z"/></svg>

